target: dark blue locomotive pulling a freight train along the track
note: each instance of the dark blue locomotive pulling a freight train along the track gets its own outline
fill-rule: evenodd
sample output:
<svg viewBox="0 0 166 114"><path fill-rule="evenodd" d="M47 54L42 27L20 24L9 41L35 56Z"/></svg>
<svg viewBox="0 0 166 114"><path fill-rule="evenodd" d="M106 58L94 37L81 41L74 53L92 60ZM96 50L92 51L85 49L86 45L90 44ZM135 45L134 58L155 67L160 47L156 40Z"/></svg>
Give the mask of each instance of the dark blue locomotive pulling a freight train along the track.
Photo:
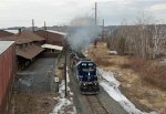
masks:
<svg viewBox="0 0 166 114"><path fill-rule="evenodd" d="M71 69L75 74L81 94L97 94L100 85L97 81L96 64L87 60L82 53L71 53Z"/></svg>

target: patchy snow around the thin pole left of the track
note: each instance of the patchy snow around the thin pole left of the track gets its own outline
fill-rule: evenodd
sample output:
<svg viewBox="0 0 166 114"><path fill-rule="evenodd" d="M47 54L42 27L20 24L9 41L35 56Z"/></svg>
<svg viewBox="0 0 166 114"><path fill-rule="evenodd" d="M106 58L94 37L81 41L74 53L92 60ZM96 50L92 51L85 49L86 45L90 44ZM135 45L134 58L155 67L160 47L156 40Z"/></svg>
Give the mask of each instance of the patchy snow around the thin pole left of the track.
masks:
<svg viewBox="0 0 166 114"><path fill-rule="evenodd" d="M66 68L68 70L68 68ZM58 100L58 104L53 108L53 113L51 114L76 114L76 108L73 104L73 93L71 92L71 89L69 87L69 73L66 72L66 82L68 82L68 95L69 99L65 99L65 81L62 80L60 86L59 86L59 93L60 95L58 97L54 97L54 100ZM69 108L69 110L66 110Z"/></svg>

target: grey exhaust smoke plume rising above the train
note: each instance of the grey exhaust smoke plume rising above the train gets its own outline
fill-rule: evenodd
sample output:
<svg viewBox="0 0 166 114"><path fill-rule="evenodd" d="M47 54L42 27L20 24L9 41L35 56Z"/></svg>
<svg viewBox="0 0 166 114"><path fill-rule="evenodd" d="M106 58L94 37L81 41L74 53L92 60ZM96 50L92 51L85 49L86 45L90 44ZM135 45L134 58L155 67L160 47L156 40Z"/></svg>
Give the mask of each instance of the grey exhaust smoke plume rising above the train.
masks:
<svg viewBox="0 0 166 114"><path fill-rule="evenodd" d="M101 33L102 29L94 24L92 18L76 18L71 21L68 41L72 50L80 51L92 43Z"/></svg>

